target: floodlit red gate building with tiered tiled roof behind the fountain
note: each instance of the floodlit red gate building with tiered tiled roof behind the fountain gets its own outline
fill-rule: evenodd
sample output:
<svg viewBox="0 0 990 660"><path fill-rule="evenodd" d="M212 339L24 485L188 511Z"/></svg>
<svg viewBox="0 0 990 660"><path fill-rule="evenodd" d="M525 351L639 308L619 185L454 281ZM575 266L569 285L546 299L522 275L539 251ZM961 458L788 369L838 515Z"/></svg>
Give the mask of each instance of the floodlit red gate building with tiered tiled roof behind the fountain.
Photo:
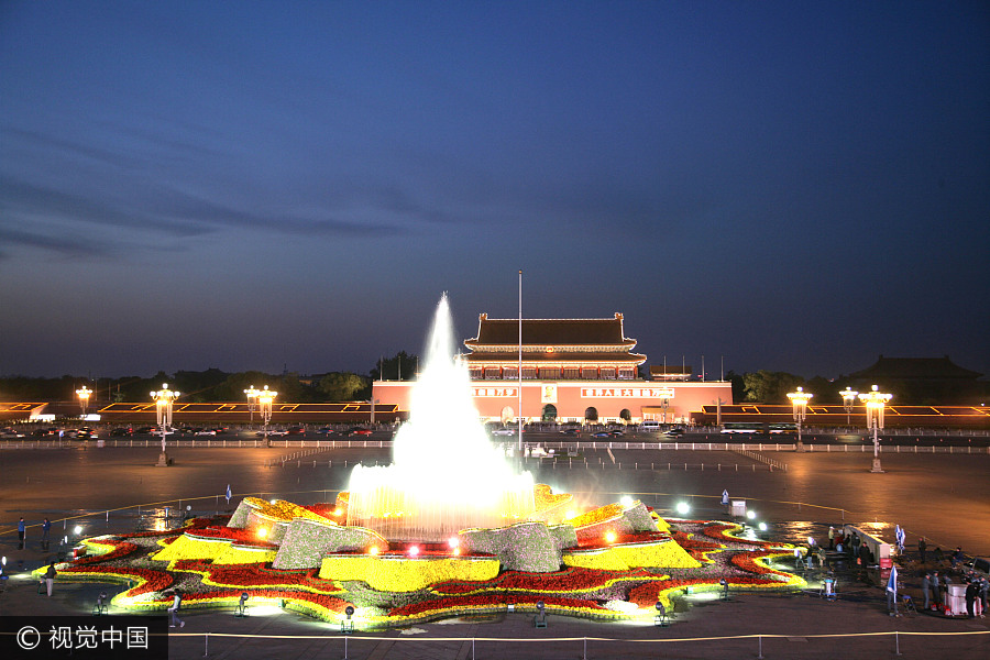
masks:
<svg viewBox="0 0 990 660"><path fill-rule="evenodd" d="M525 421L688 422L692 410L732 403L727 382L688 382L684 370L663 382L639 377L647 356L632 352L624 317L604 319L492 319L479 316L475 337L460 359L471 374L479 415L487 420L518 417L521 362ZM520 360L521 348L521 360ZM408 409L411 383L376 381L374 398Z"/></svg>

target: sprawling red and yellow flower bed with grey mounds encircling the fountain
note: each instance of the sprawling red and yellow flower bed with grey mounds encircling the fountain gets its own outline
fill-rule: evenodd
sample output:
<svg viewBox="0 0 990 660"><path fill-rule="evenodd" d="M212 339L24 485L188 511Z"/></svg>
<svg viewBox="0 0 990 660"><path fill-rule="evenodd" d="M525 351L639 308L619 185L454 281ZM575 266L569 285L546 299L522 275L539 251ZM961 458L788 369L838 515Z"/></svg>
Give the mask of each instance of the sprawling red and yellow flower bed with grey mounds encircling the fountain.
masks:
<svg viewBox="0 0 990 660"><path fill-rule="evenodd" d="M450 546L419 543L413 559L411 543L388 543L328 518L341 503L346 506L342 495L333 509L242 502L234 516L240 515L240 526L231 518L223 527L218 517L184 529L87 539L92 553L61 566L57 579L135 582L113 600L131 609L165 609L172 588L183 591L188 607L233 606L248 592L252 602L270 601L323 620L337 620L352 604L363 628L505 612L509 604L535 610L539 601L556 614L629 619L651 616L657 601L670 605L688 587L718 590L723 579L730 588L804 584L769 563L791 554L787 544L735 537L740 528L723 522L672 520L668 527L639 503L579 518L586 528L624 521L625 531L615 539L587 535L579 546L569 524L527 521L462 531L458 557ZM544 496L550 495L548 488ZM307 515L296 515L299 509ZM245 527L252 514L274 520L273 512L293 516L278 520L286 529L280 547L260 541L256 530ZM373 548L378 556L370 554Z"/></svg>

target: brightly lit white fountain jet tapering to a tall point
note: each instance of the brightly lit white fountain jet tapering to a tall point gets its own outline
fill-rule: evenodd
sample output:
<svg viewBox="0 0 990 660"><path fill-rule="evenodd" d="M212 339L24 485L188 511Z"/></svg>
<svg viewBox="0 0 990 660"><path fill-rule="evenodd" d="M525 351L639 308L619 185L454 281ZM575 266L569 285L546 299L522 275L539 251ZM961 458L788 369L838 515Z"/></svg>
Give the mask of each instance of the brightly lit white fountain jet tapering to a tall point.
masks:
<svg viewBox="0 0 990 660"><path fill-rule="evenodd" d="M476 527L503 527L534 513L534 482L492 446L471 397L465 364L454 359L444 294L426 362L414 384L409 420L395 437L394 463L351 473L348 526L389 540L443 540Z"/></svg>

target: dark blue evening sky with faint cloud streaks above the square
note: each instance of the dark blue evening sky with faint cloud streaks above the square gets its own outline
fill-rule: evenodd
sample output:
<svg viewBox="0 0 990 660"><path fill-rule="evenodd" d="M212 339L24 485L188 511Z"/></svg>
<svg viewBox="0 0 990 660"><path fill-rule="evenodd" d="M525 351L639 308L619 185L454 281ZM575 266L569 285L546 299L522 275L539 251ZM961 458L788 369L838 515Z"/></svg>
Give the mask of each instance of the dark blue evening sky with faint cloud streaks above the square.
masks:
<svg viewBox="0 0 990 660"><path fill-rule="evenodd" d="M990 373L986 2L0 4L0 374L367 372L477 315Z"/></svg>

